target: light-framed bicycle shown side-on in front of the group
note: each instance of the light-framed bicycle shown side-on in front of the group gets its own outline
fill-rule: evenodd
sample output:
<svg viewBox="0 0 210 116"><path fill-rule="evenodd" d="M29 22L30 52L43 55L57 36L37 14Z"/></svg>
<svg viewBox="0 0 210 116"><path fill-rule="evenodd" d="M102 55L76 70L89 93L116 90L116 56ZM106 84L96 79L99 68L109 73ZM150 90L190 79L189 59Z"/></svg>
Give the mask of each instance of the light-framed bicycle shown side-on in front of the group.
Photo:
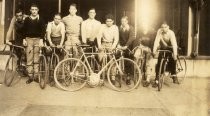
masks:
<svg viewBox="0 0 210 116"><path fill-rule="evenodd" d="M88 62L87 55L98 55L99 53L85 53L83 49L81 50L82 55L80 58L67 58L59 62L56 66L54 71L54 80L59 88L66 91L77 91L83 88L86 83L93 87L102 85L104 83L104 78L101 78L101 75L107 68L108 82L114 90L131 91L137 87L138 83L140 82L140 75L136 75L135 73L140 74L140 70L133 60L123 57L116 59L113 53L106 53L106 55L111 56L110 60L96 73L94 70L92 70L91 65ZM126 66L125 64L131 64L130 66L136 69L135 71L137 72L131 73L132 83L130 85L124 84L125 86L115 86L110 79L113 75L112 71L115 71L116 77L120 78L121 80L125 80L127 76L127 74L124 74L125 71L123 70L125 69L123 67Z"/></svg>

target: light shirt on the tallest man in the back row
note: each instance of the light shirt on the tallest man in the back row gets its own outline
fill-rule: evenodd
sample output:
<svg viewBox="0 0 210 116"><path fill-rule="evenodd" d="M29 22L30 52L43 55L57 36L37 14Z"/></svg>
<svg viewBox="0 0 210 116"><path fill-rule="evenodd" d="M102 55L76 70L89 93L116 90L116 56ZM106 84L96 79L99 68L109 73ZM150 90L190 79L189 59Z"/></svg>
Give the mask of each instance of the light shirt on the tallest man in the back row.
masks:
<svg viewBox="0 0 210 116"><path fill-rule="evenodd" d="M63 18L63 23L66 27L66 34L74 37L80 36L80 27L83 19L80 16L68 15Z"/></svg>

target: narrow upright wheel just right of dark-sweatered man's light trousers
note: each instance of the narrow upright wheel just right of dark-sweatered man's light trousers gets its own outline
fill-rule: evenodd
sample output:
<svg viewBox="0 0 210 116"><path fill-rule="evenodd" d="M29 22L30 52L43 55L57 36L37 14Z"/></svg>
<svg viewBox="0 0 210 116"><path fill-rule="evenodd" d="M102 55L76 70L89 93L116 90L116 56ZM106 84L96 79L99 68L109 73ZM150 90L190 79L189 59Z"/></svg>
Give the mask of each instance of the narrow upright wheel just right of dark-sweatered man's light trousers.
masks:
<svg viewBox="0 0 210 116"><path fill-rule="evenodd" d="M47 61L44 55L39 56L39 86L41 89L46 87L48 70L47 70Z"/></svg>

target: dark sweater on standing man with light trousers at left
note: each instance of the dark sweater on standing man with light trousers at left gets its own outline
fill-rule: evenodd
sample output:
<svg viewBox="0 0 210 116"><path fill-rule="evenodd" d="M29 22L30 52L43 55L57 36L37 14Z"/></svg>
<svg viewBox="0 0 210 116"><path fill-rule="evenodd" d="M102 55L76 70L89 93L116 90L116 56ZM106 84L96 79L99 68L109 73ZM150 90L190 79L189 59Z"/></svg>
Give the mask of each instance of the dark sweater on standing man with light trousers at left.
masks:
<svg viewBox="0 0 210 116"><path fill-rule="evenodd" d="M25 37L36 37L43 39L45 34L44 20L40 17L39 19L31 19L30 17L27 17L24 22L23 30Z"/></svg>

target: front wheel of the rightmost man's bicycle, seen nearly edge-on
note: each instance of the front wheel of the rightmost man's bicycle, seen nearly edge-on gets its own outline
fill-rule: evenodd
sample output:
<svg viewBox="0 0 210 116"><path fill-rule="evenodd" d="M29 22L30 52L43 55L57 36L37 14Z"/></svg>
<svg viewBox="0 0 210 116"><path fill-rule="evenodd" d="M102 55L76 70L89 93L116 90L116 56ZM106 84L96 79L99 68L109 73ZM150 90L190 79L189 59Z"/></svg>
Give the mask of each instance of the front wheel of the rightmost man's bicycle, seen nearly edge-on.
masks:
<svg viewBox="0 0 210 116"><path fill-rule="evenodd" d="M160 68L158 72L158 91L160 91L163 87L165 70L166 70L166 61L164 59L160 62Z"/></svg>

